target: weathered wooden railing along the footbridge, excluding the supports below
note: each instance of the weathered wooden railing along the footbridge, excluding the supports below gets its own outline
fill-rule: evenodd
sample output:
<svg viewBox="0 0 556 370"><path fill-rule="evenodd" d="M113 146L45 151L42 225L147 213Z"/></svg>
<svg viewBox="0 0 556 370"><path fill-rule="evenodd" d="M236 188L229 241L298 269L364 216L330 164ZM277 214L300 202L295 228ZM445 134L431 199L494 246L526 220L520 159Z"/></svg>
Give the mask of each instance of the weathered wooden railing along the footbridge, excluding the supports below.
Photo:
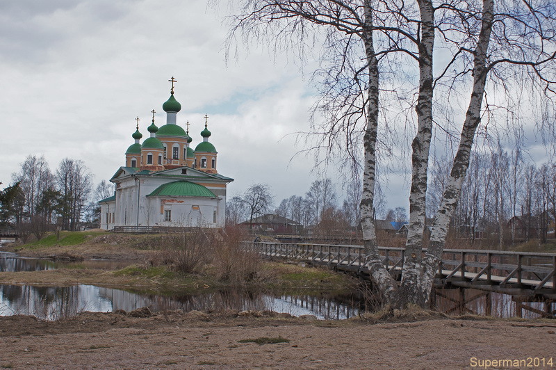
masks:
<svg viewBox="0 0 556 370"><path fill-rule="evenodd" d="M245 242L267 257L299 259L334 265L343 270L366 271L363 246L311 243ZM403 268L404 248L379 247L384 267L393 274ZM423 249L423 255L427 250ZM497 284L500 287L527 286L534 291L556 287L556 254L505 252L498 250L443 251L438 277L445 281Z"/></svg>

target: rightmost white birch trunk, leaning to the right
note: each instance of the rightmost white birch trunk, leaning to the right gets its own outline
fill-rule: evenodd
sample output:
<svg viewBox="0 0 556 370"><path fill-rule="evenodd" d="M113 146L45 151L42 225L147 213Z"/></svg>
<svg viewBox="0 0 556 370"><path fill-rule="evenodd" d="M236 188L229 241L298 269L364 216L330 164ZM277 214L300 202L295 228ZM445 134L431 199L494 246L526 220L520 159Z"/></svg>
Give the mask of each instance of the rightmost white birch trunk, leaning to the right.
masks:
<svg viewBox="0 0 556 370"><path fill-rule="evenodd" d="M479 39L477 40L477 47L475 48L475 60L473 65L473 91L471 93L464 126L461 129L461 138L452 165L452 171L450 172L450 180L444 192L439 210L434 217L429 250L425 255L425 261L423 261L423 279L420 287L425 300L428 300L430 296L430 291L434 282L434 274L441 261L446 234L448 234L448 225L457 207L457 202L461 193L461 184L464 182L469 167L469 158L471 156L471 147L473 145L475 131L481 121L480 114L484 96L484 86L486 84L486 76L489 72L486 67L486 57L493 22L493 6L493 0L483 0L482 26Z"/></svg>

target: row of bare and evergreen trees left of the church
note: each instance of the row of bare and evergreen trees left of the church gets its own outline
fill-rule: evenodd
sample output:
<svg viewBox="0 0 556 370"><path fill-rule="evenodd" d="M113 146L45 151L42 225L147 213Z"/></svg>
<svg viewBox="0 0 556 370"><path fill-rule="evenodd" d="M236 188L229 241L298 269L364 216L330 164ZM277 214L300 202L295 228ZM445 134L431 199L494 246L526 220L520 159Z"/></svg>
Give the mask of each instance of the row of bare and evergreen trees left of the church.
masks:
<svg viewBox="0 0 556 370"><path fill-rule="evenodd" d="M97 202L113 192L105 180L93 188L92 174L81 160L63 159L53 172L44 156L28 155L0 192L0 227L38 239L56 228L99 227Z"/></svg>

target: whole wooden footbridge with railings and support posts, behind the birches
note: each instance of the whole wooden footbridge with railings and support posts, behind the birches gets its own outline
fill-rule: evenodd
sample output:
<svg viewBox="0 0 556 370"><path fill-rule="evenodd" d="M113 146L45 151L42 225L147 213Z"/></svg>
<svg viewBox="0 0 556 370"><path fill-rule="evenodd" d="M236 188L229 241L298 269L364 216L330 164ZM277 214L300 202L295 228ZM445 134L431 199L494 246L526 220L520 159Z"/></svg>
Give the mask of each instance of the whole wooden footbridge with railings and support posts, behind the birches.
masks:
<svg viewBox="0 0 556 370"><path fill-rule="evenodd" d="M337 271L345 271L368 279L368 268L364 266L366 255L363 246L334 246L308 243L246 242L265 257L293 259L307 264L325 265ZM426 250L423 249L423 255ZM403 248L379 247L384 268L397 280L401 278L404 261ZM458 289L457 296L448 293ZM466 289L477 289L479 293L466 297ZM516 305L516 316L523 309L540 316L555 318L556 310L556 254L534 252L502 252L497 250L443 251L442 261L436 273L434 294L436 299L451 301L448 313L471 312L467 304L479 298L485 299L485 314L491 314L491 293L512 296ZM541 303L543 309L526 303ZM538 304L537 304L538 306Z"/></svg>

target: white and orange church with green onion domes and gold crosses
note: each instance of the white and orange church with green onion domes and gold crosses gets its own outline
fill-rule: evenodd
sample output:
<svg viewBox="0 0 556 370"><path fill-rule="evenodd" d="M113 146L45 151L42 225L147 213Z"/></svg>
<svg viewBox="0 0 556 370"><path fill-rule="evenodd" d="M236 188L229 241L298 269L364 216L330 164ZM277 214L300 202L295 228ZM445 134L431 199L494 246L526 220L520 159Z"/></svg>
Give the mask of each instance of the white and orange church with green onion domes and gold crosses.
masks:
<svg viewBox="0 0 556 370"><path fill-rule="evenodd" d="M181 104L174 98L172 77L170 99L162 105L166 124L147 127L150 137L140 143L137 129L135 143L126 151L126 164L110 179L116 193L101 200L101 227L117 226L223 227L226 186L234 181L218 173L216 149L208 138L205 115L203 141L193 150L192 138L177 124Z"/></svg>

